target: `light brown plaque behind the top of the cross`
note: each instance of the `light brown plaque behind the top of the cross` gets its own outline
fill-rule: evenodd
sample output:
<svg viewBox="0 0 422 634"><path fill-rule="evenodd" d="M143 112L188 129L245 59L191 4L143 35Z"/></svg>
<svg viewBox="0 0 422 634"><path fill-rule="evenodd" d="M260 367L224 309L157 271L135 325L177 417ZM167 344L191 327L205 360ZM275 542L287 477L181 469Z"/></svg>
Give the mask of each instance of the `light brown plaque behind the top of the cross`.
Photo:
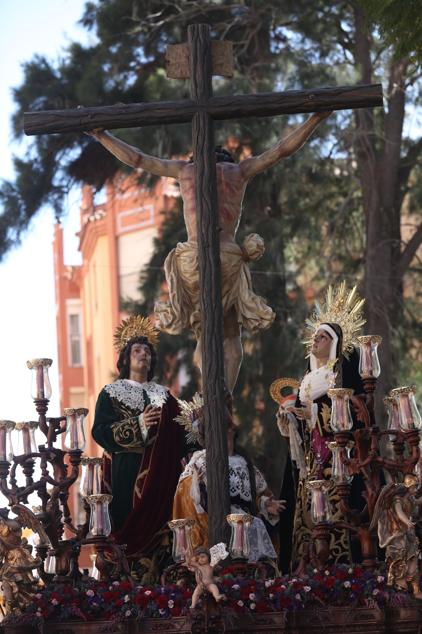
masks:
<svg viewBox="0 0 422 634"><path fill-rule="evenodd" d="M169 79L189 79L189 45L168 44L165 52L166 76ZM234 76L233 42L211 42L211 67L213 75Z"/></svg>

